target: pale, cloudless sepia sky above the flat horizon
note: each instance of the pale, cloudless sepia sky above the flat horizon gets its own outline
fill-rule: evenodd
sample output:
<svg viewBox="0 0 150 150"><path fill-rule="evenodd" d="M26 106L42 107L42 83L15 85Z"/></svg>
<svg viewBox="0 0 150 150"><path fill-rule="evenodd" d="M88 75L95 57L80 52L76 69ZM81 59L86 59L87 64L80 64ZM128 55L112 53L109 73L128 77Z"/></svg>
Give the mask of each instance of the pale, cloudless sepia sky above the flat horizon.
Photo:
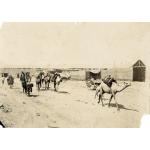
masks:
<svg viewBox="0 0 150 150"><path fill-rule="evenodd" d="M4 23L0 67L150 66L150 23Z"/></svg>

